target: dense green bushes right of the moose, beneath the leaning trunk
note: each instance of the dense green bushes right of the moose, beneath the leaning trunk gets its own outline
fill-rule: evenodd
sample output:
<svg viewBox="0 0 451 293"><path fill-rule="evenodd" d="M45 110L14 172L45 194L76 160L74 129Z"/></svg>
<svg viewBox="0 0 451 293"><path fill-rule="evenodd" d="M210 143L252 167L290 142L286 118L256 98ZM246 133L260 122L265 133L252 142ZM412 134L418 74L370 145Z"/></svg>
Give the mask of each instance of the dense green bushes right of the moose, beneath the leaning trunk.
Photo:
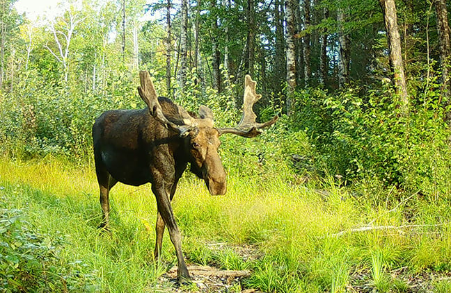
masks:
<svg viewBox="0 0 451 293"><path fill-rule="evenodd" d="M329 174L355 181L372 178L410 192L447 193L450 131L440 99L418 93L418 106L403 117L390 87L365 96L350 87L338 95L322 90L299 92L295 129L312 138ZM321 169L319 169L321 170Z"/></svg>

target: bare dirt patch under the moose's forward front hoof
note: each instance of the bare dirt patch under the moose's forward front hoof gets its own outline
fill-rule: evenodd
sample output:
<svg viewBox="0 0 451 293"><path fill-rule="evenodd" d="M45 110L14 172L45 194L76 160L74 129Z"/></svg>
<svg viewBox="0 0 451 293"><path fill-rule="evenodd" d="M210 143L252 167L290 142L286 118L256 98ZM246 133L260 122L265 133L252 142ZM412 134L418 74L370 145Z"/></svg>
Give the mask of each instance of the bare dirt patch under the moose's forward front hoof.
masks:
<svg viewBox="0 0 451 293"><path fill-rule="evenodd" d="M188 266L192 284L179 285L177 283L177 267L171 268L161 278L156 288L157 292L242 292L258 293L260 291L242 290L241 281L251 276L251 271L221 270L209 266Z"/></svg>

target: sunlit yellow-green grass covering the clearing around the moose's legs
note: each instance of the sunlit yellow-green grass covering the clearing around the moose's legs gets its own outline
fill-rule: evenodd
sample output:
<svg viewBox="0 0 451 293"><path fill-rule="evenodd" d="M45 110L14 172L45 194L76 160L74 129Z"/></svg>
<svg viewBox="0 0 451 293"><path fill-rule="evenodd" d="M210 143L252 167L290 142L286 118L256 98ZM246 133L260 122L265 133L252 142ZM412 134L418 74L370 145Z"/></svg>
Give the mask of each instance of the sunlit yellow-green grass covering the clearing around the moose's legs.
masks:
<svg viewBox="0 0 451 293"><path fill-rule="evenodd" d="M192 176L180 182L173 208L189 263L251 269L242 285L264 292L346 292L354 286L409 292L408 277L422 275L437 292L450 288L444 277L451 271L446 196L428 201L398 193L396 199L394 190L365 193L332 181L288 185L283 178L230 176L228 182L225 196L210 196ZM155 292L159 276L175 264L167 233L162 264L152 257L156 204L149 185L116 185L111 207L111 233L100 233L92 167L0 160L0 208L22 210L24 226L47 235L45 241L52 243L52 235L62 240L55 261L58 276L68 281L54 278L54 291L69 284L74 292ZM431 226L335 235L369 223ZM239 247L251 247L253 257L244 259ZM390 274L399 269L404 276Z"/></svg>

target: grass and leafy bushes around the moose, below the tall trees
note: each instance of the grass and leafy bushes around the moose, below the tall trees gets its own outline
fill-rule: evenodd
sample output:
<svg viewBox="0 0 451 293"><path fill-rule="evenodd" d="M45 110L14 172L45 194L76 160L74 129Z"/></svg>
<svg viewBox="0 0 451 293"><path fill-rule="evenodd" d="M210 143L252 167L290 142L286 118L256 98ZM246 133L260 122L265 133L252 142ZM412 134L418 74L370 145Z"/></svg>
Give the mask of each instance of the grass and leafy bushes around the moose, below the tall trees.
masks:
<svg viewBox="0 0 451 293"><path fill-rule="evenodd" d="M225 196L209 196L187 172L173 206L189 263L250 269L233 290L451 290L445 110L434 92L418 94L402 116L390 87L358 91L299 91L297 110L260 137L222 137ZM90 126L105 108L139 108L129 96L3 98L2 290L164 292L159 276L175 256L166 235L163 262L153 260L150 186L114 187L112 231L97 228ZM216 124L236 123L239 111L219 110L226 94L200 97L177 103L189 110L206 103ZM273 109L260 109L262 120Z"/></svg>

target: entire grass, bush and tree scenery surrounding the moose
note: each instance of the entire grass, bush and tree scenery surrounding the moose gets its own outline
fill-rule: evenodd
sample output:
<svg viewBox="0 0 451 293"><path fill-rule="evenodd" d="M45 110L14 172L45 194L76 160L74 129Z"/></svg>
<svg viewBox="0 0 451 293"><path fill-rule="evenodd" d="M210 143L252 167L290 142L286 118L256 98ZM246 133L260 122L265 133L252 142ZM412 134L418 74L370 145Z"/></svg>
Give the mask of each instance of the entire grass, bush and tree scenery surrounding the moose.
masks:
<svg viewBox="0 0 451 293"><path fill-rule="evenodd" d="M63 0L37 19L16 2L0 4L0 292L176 290L149 185L116 185L97 228L91 129L144 108L141 70L219 127L250 74L258 121L280 116L221 136L225 196L182 177L189 265L251 271L228 292L451 292L450 1Z"/></svg>

